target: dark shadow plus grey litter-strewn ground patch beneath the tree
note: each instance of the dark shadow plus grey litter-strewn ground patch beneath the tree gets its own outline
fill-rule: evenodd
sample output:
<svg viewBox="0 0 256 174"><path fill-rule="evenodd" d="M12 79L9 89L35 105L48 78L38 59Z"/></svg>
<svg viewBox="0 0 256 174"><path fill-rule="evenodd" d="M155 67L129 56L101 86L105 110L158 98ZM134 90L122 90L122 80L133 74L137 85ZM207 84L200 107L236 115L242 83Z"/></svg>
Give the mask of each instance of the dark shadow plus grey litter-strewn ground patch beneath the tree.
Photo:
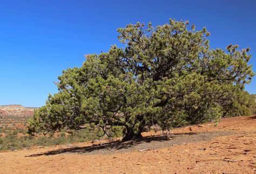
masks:
<svg viewBox="0 0 256 174"><path fill-rule="evenodd" d="M166 134L157 136L146 136L139 140L127 142L114 141L104 144L91 145L88 147L72 147L43 152L41 154L33 154L26 157L38 157L58 155L64 153L78 153L83 155L109 155L116 152L125 153L131 151L141 151L147 149L170 148L172 145L180 145L186 143L196 143L200 141L209 141L215 137L241 134L234 131L214 131L203 133L181 133L181 134Z"/></svg>

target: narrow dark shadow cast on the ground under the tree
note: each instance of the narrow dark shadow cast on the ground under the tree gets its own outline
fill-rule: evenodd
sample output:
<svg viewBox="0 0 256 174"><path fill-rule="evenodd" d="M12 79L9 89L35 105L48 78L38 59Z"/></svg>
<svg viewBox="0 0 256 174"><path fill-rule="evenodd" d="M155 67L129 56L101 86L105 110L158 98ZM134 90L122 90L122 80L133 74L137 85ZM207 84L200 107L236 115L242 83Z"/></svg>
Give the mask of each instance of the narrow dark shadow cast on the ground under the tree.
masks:
<svg viewBox="0 0 256 174"><path fill-rule="evenodd" d="M196 135L196 133L183 133L183 134L166 134L166 135L156 135L156 136L146 136L138 140L131 140L127 142L122 142L120 140L109 142L109 143L103 143L103 144L97 144L97 145L91 145L88 147L72 147L72 148L65 148L65 149L58 149L58 150L52 150L43 152L41 154L33 154L25 157L37 157L37 156L49 156L49 155L57 155L57 154L63 154L63 153L80 153L85 154L89 152L99 152L99 151L105 151L107 154L112 154L112 152L116 152L119 150L125 150L136 147L139 144L142 143L150 143L150 142L164 142L164 141L170 141L173 140L174 137L178 136L189 136L189 135ZM138 149L138 148L136 148ZM91 154L91 153L90 153ZM95 153L93 153L95 154ZM98 153L97 153L98 154ZM106 153L100 153L100 154L106 154Z"/></svg>

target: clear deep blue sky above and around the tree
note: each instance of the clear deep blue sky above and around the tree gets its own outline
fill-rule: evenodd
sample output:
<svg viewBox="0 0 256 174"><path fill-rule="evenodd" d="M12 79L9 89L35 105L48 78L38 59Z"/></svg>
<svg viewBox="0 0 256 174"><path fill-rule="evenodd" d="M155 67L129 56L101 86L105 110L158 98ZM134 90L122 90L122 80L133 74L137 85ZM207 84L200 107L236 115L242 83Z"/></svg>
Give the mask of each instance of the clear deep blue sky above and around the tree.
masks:
<svg viewBox="0 0 256 174"><path fill-rule="evenodd" d="M0 0L0 105L44 105L62 69L118 44L118 27L169 18L206 26L212 48L251 47L256 72L256 1ZM256 93L256 77L246 90Z"/></svg>

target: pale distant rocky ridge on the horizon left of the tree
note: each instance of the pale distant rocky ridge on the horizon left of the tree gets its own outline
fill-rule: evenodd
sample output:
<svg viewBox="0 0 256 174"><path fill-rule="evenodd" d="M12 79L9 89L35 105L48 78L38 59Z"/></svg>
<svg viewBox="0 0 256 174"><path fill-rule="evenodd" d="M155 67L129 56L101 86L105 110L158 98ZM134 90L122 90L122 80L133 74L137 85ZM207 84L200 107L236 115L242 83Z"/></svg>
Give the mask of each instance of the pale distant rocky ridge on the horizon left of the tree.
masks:
<svg viewBox="0 0 256 174"><path fill-rule="evenodd" d="M33 116L34 109L36 108L30 108L30 107L24 107L22 105L6 105L6 106L0 106L0 116L6 117L6 116Z"/></svg>

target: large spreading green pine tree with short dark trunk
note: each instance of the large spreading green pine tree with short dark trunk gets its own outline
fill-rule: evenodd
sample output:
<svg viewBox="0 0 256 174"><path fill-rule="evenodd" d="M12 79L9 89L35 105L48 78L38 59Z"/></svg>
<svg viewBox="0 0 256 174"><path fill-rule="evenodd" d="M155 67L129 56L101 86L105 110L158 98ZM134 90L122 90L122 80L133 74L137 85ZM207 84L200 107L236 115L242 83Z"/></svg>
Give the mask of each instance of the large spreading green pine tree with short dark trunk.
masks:
<svg viewBox="0 0 256 174"><path fill-rule="evenodd" d="M211 49L210 32L187 21L129 24L117 31L124 47L86 55L82 67L63 71L58 93L36 110L30 132L94 125L107 134L120 126L127 141L154 125L215 121L232 112L254 75L250 48Z"/></svg>

